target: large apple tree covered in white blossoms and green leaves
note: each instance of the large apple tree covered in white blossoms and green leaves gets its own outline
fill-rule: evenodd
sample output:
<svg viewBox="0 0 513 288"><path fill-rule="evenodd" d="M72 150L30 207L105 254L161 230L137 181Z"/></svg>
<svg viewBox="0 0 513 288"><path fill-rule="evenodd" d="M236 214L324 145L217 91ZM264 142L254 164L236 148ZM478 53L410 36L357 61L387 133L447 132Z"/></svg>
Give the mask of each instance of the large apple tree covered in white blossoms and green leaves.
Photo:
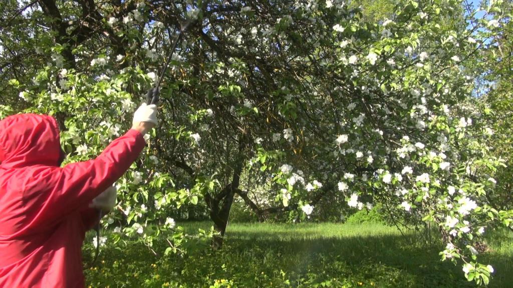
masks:
<svg viewBox="0 0 513 288"><path fill-rule="evenodd" d="M349 207L379 202L438 225L442 259L487 283L493 269L475 243L511 227L513 211L489 205L503 163L480 121L490 110L467 105L477 75L466 63L484 49L480 31L505 25L501 3L477 18L455 0L399 1L389 19L366 22L337 0L7 1L0 116L54 115L67 161L94 157L129 127L194 19L165 74L161 124L118 183L105 222L115 240L151 247L172 230L167 252L182 251L168 214L184 204L204 200L222 236L237 194L265 218L310 215L335 192Z"/></svg>

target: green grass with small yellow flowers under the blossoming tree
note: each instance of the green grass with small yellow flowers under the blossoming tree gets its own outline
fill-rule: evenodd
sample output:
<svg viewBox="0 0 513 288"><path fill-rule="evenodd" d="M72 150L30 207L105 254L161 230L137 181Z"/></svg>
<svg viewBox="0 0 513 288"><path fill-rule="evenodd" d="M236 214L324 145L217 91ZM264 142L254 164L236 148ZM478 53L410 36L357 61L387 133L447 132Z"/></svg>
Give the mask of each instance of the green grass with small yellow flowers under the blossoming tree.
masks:
<svg viewBox="0 0 513 288"><path fill-rule="evenodd" d="M183 225L192 233L211 224ZM512 287L512 239L489 237L483 259L496 270L489 287ZM231 224L222 250L185 257L155 256L135 241L108 245L86 279L92 287L209 287L222 279L231 287L473 287L460 266L440 261L440 246L381 224ZM153 247L165 248L164 241ZM84 250L89 266L92 248Z"/></svg>

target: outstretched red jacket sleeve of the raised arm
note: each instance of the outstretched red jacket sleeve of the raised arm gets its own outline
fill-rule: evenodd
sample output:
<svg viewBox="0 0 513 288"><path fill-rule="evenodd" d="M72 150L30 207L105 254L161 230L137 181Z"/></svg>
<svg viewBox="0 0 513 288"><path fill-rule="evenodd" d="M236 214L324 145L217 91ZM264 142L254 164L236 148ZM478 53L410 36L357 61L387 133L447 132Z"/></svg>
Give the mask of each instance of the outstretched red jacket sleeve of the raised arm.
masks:
<svg viewBox="0 0 513 288"><path fill-rule="evenodd" d="M129 130L115 139L96 159L76 162L58 169L52 189L35 222L58 220L88 204L130 168L144 149L143 135Z"/></svg>

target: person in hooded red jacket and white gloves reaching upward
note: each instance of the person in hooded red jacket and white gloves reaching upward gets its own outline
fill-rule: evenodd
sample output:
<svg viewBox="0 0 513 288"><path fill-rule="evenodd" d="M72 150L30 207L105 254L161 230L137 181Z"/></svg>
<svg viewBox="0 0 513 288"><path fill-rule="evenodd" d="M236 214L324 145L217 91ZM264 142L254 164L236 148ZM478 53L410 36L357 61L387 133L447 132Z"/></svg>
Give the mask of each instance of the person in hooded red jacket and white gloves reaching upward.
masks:
<svg viewBox="0 0 513 288"><path fill-rule="evenodd" d="M85 286L81 246L101 207L93 200L136 160L156 113L143 104L132 129L100 156L64 167L54 118L0 121L0 288Z"/></svg>

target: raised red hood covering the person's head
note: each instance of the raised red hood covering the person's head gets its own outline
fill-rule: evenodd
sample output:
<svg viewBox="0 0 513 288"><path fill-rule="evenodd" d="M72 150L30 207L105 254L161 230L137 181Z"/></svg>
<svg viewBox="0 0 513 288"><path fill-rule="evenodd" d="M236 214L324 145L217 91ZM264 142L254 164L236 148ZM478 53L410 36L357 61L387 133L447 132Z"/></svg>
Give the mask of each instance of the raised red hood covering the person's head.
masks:
<svg viewBox="0 0 513 288"><path fill-rule="evenodd" d="M0 167L60 166L64 159L53 117L18 114L0 121Z"/></svg>

